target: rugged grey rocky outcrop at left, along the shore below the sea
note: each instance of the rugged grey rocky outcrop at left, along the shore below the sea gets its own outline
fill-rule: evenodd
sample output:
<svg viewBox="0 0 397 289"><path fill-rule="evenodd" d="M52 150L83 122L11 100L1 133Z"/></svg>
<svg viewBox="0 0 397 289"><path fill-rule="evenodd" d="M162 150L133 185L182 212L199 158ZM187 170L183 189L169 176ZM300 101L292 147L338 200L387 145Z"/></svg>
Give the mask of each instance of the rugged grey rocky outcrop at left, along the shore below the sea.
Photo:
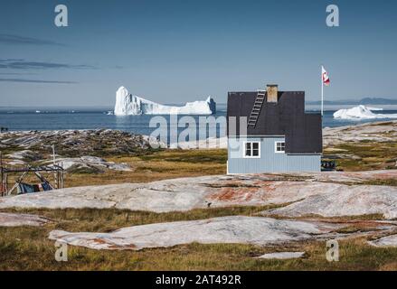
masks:
<svg viewBox="0 0 397 289"><path fill-rule="evenodd" d="M111 129L24 131L0 135L0 148L14 148L15 153L11 155L14 159L25 158L28 152L51 154L52 144L56 145L56 153L63 157L142 154L152 147L151 144L166 146L147 135Z"/></svg>

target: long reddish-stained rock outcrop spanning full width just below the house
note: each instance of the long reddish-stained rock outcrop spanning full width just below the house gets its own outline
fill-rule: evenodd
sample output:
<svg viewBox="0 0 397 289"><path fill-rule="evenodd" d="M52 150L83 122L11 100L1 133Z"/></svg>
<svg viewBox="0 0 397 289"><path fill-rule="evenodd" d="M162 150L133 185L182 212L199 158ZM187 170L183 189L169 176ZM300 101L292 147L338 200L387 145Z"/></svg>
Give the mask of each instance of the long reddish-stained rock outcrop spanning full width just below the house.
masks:
<svg viewBox="0 0 397 289"><path fill-rule="evenodd" d="M284 207L264 212L325 217L382 214L397 218L397 187L362 185L397 171L219 175L149 183L68 188L0 199L0 208L117 208L155 212L226 206ZM354 184L355 183L355 184Z"/></svg>

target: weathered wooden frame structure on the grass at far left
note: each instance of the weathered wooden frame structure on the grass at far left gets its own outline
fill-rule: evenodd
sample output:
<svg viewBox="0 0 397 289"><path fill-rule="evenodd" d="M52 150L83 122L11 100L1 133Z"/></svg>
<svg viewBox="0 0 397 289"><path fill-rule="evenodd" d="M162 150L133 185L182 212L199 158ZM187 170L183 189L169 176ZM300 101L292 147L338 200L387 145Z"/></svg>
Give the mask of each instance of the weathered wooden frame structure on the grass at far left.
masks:
<svg viewBox="0 0 397 289"><path fill-rule="evenodd" d="M63 189L63 174L64 170L63 167L53 163L51 166L50 165L45 165L45 166L27 166L24 168L14 168L14 169L8 169L5 166L3 166L3 157L0 152L0 173L1 173L1 183L0 183L0 195L7 196L11 195L13 191L18 187L18 185L24 181L24 177L30 173L33 172L34 175L40 180L40 182L47 182L51 189ZM44 177L41 172L53 172L54 175L54 185L52 185L51 182L48 182ZM11 189L8 189L8 175L10 173L22 173L20 177L15 181L13 187Z"/></svg>

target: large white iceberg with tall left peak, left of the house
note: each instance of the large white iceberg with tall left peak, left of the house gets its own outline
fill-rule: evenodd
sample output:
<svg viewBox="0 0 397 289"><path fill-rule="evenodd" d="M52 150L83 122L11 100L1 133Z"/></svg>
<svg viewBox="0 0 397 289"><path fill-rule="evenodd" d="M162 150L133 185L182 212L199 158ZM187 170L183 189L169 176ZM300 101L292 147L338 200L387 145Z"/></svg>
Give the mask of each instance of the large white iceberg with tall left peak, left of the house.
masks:
<svg viewBox="0 0 397 289"><path fill-rule="evenodd" d="M184 107L164 106L156 102L139 98L120 87L116 92L116 116L137 115L212 115L216 112L216 103L208 97L203 101L187 102Z"/></svg>

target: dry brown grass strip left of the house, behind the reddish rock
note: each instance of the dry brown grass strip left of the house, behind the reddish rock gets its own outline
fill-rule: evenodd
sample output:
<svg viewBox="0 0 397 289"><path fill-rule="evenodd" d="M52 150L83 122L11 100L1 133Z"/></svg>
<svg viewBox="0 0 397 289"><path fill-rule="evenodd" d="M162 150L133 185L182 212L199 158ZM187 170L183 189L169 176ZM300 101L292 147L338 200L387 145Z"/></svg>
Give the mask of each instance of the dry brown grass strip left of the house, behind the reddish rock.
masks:
<svg viewBox="0 0 397 289"><path fill-rule="evenodd" d="M109 162L128 163L132 172L106 170L100 173L66 173L65 187L115 184L123 182L154 182L165 179L226 173L226 150L165 150L139 156L106 157ZM51 173L44 173L53 180ZM12 183L18 175L10 174ZM26 182L38 182L29 175Z"/></svg>

